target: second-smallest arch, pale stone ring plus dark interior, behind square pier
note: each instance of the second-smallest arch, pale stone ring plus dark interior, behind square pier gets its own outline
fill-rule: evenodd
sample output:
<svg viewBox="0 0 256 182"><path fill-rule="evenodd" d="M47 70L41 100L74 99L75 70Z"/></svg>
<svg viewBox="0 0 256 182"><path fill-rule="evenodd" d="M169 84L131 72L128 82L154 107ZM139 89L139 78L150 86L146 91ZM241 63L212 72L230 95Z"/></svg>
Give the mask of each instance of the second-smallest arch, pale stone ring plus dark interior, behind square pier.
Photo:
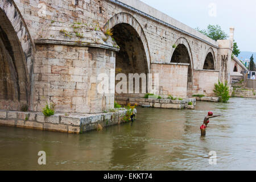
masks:
<svg viewBox="0 0 256 182"><path fill-rule="evenodd" d="M187 94L192 94L193 89L193 56L188 40L180 37L172 48L171 63L188 63Z"/></svg>

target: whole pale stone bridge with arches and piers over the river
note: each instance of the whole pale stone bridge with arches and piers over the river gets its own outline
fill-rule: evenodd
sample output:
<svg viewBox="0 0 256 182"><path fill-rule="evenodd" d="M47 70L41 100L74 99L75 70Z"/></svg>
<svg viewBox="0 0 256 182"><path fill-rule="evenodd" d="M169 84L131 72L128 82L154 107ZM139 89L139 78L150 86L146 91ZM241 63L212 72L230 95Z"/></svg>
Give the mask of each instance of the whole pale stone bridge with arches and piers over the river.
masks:
<svg viewBox="0 0 256 182"><path fill-rule="evenodd" d="M216 42L138 0L0 0L0 109L99 113L148 91L99 93L100 73L112 86L159 73L162 97L213 96L230 80L233 32Z"/></svg>

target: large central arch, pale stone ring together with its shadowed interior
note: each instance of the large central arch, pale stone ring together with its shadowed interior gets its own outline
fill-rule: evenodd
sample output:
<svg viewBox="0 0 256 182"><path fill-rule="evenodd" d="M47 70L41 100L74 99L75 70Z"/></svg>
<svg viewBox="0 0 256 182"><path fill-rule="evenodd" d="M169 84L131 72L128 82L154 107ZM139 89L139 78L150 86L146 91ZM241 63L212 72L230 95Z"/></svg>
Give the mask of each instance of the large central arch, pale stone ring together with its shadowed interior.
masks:
<svg viewBox="0 0 256 182"><path fill-rule="evenodd" d="M124 73L126 75L127 93L130 93L116 93L116 96L144 96L147 92L147 73L150 73L151 61L147 39L141 24L132 15L119 13L110 18L104 28L105 30L112 30L113 38L120 47L119 52L115 54L115 66L117 68L115 73ZM138 73L139 76L142 76L139 79L139 88L136 87L137 84L134 82L133 87L130 87L130 73ZM115 84L118 84L118 81ZM131 96L131 93L135 93L136 95L132 94Z"/></svg>

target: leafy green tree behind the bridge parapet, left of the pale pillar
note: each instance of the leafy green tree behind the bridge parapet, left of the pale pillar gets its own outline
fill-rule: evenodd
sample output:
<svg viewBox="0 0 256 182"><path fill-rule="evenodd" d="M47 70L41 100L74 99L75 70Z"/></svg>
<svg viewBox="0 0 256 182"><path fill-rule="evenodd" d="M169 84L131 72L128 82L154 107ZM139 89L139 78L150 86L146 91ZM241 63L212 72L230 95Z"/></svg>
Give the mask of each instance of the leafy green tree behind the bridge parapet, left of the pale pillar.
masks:
<svg viewBox="0 0 256 182"><path fill-rule="evenodd" d="M216 41L228 38L228 34L221 30L218 24L216 24L216 26L209 24L207 30L200 30L199 27L197 27L196 30Z"/></svg>

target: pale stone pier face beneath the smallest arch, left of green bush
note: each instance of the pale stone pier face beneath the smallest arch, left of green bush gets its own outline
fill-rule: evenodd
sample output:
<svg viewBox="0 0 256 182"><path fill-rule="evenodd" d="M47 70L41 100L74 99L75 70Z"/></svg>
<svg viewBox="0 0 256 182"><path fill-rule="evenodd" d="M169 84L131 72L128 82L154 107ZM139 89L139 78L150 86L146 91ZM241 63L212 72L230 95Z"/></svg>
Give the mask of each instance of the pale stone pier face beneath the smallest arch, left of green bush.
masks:
<svg viewBox="0 0 256 182"><path fill-rule="evenodd" d="M218 83L218 71L195 70L193 94L203 94L205 96L215 96L214 84Z"/></svg>

